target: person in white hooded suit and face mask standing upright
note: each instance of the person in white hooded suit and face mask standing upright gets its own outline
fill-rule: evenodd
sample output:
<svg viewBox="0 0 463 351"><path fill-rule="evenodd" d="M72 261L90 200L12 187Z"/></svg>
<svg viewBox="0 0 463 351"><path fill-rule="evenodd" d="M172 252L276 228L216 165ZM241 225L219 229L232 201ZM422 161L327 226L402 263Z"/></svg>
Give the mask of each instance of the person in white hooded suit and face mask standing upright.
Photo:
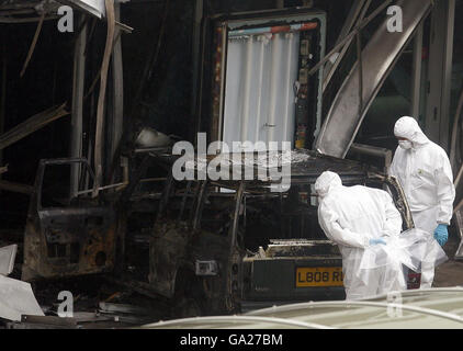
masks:
<svg viewBox="0 0 463 351"><path fill-rule="evenodd" d="M453 214L455 188L445 151L429 140L417 121L404 116L397 120L394 135L398 139L389 174L404 189L415 226L443 246ZM434 278L433 264L421 267L421 288L429 288Z"/></svg>

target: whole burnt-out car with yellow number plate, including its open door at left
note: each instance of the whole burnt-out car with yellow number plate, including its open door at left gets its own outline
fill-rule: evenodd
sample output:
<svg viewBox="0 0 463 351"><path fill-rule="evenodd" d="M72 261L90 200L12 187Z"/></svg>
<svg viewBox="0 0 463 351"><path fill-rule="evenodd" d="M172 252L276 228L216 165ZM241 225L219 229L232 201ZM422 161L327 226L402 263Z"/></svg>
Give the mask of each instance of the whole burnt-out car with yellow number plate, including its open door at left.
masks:
<svg viewBox="0 0 463 351"><path fill-rule="evenodd" d="M81 165L89 177L92 172L82 159L42 161L24 236L23 280L109 273L125 284L132 282L142 293L159 295L178 315L345 298L341 256L317 222L313 184L325 170L338 172L347 185L388 189L403 215L404 230L413 227L397 181L357 161L293 151L290 190L272 192L270 178L178 181L172 172L176 159L148 151L143 160L166 169L162 192L148 193L154 210L146 238L149 271L134 270L143 263L131 262L125 251L134 240L126 237L127 218L140 211L131 204L146 197L139 191L144 182L134 177L134 183L113 199L103 193L91 199L90 190L66 202L52 197L48 201L55 203L45 204L47 167ZM253 167L257 174L260 166Z"/></svg>

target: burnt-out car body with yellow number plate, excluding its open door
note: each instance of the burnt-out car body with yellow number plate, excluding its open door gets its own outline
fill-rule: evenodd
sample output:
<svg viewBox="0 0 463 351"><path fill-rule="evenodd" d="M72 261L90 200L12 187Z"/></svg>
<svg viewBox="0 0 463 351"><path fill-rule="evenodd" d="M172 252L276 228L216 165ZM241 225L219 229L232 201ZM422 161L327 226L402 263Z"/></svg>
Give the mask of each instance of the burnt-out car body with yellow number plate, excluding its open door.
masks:
<svg viewBox="0 0 463 351"><path fill-rule="evenodd" d="M325 170L345 185L387 188L404 229L414 226L394 178L314 151L292 151L291 188L282 192L271 191L270 177L177 181L171 173L150 240L151 288L183 315L345 298L340 252L317 219L313 185Z"/></svg>

